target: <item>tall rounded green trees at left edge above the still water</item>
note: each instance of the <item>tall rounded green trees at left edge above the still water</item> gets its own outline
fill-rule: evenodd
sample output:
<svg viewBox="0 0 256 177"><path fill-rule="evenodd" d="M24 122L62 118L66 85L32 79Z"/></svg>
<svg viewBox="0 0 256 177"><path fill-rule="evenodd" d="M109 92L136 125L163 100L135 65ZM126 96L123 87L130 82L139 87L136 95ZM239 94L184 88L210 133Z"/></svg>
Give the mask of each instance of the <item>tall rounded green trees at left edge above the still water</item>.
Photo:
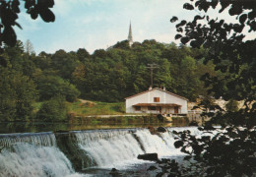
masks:
<svg viewBox="0 0 256 177"><path fill-rule="evenodd" d="M26 121L32 116L35 86L27 76L0 67L0 121Z"/></svg>

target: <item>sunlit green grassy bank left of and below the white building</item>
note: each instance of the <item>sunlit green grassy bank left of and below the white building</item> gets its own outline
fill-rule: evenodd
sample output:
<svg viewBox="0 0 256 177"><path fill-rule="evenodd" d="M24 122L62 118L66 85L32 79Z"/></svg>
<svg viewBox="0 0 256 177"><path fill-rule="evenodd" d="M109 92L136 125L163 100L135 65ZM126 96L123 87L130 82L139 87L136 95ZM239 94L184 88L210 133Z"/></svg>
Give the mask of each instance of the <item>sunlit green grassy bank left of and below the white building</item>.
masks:
<svg viewBox="0 0 256 177"><path fill-rule="evenodd" d="M156 115L131 115L125 113L124 102L107 103L89 100L77 100L76 102L66 102L69 111L69 121L74 124L161 124ZM34 104L34 112L39 110L41 102ZM164 120L163 122L166 122ZM173 117L174 124L185 125L187 120L185 118Z"/></svg>

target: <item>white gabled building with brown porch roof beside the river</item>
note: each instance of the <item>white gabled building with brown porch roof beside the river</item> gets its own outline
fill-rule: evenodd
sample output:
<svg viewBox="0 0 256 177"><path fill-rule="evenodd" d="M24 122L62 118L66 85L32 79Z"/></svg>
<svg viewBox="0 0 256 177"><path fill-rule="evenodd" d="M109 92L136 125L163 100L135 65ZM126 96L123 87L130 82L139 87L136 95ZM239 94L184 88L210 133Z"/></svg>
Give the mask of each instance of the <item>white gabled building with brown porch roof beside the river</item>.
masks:
<svg viewBox="0 0 256 177"><path fill-rule="evenodd" d="M187 114L188 99L165 89L149 89L125 99L126 113Z"/></svg>

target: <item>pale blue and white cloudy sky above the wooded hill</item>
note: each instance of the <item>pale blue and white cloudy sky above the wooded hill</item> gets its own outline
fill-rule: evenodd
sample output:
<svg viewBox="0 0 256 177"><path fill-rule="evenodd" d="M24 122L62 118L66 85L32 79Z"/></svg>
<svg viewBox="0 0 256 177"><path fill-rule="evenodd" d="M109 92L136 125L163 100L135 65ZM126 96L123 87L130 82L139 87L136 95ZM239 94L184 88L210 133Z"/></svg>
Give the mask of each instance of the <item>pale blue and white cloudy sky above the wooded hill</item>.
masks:
<svg viewBox="0 0 256 177"><path fill-rule="evenodd" d="M86 48L90 53L106 49L127 39L130 22L133 40L156 39L170 43L176 34L172 16L190 20L196 11L184 10L186 0L55 0L51 9L54 23L44 23L40 17L32 20L24 10L16 28L18 39L29 39L35 53L54 53L59 49L77 51ZM223 15L224 16L224 15ZM227 16L226 16L227 17Z"/></svg>

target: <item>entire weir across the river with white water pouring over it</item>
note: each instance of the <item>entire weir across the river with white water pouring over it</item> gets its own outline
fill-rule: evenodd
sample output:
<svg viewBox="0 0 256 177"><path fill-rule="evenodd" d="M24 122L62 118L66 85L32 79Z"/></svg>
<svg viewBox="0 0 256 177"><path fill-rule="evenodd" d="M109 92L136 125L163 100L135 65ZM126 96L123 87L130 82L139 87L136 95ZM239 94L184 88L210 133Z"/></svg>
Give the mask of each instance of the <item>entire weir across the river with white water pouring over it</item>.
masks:
<svg viewBox="0 0 256 177"><path fill-rule="evenodd" d="M125 169L138 154L157 152L159 157L183 155L174 148L172 131L196 128L167 128L152 135L148 129L71 131L0 135L0 177L83 176L88 168Z"/></svg>

